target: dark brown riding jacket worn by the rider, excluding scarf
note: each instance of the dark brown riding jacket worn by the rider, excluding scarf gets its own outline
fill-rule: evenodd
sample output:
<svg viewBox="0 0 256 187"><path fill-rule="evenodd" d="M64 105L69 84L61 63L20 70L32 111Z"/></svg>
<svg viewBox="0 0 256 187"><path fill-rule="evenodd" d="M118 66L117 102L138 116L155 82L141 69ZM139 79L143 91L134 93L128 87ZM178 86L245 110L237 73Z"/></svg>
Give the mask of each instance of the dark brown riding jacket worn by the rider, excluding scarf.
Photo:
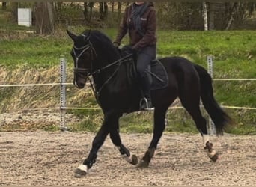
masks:
<svg viewBox="0 0 256 187"><path fill-rule="evenodd" d="M132 5L129 5L129 7L125 9L115 43L120 45L122 38L127 34L127 31L129 31L129 44L133 49L141 49L145 46L156 46L156 10L153 7L153 3L149 4L147 10L145 10L141 16L141 28L144 35L136 31L131 15Z"/></svg>

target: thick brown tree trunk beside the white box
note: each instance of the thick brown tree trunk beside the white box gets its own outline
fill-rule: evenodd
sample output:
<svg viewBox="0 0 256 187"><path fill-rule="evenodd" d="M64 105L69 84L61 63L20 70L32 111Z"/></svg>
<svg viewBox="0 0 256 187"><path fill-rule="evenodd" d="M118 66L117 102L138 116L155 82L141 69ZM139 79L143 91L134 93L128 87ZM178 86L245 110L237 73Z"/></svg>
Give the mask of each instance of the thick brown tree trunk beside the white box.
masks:
<svg viewBox="0 0 256 187"><path fill-rule="evenodd" d="M55 31L55 12L51 2L37 2L35 7L37 34L52 34Z"/></svg>

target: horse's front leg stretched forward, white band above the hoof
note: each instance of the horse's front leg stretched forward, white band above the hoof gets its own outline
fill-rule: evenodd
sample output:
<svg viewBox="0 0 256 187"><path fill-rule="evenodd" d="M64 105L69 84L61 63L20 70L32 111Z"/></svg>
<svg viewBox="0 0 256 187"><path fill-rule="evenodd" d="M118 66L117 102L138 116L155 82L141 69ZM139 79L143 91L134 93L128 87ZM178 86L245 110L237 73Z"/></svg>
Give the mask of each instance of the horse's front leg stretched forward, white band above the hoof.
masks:
<svg viewBox="0 0 256 187"><path fill-rule="evenodd" d="M88 169L92 167L92 165L96 162L97 151L103 145L106 136L109 134L109 127L106 120L103 122L103 126L101 126L100 130L97 132L97 135L92 142L92 148L88 157L76 168L75 177L83 177L88 173Z"/></svg>

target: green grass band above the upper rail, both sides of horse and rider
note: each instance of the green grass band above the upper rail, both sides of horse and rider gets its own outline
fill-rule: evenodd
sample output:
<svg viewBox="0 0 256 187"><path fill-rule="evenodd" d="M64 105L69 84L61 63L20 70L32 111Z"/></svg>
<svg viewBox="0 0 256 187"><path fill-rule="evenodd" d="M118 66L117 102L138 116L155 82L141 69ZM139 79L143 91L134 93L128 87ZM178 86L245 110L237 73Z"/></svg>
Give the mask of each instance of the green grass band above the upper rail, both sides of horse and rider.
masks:
<svg viewBox="0 0 256 187"><path fill-rule="evenodd" d="M83 28L73 30L79 34ZM104 32L114 40L115 30L105 29ZM158 31L157 33L157 53L160 57L184 56L207 67L207 55L213 55L214 77L249 78L256 75L256 31ZM127 38L124 39L124 43L127 43ZM52 66L58 64L60 55L71 60L71 46L72 42L67 34L56 37L36 36L23 40L1 40L0 50L3 54L0 57L0 64L11 66L27 63L38 67Z"/></svg>

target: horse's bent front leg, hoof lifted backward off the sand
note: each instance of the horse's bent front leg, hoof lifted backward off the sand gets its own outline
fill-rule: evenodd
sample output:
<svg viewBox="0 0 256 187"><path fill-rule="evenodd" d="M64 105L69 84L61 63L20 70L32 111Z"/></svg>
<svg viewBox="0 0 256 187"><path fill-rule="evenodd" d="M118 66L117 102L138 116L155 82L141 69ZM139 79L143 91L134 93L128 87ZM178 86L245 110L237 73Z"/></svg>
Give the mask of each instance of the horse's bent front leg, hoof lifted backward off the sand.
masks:
<svg viewBox="0 0 256 187"><path fill-rule="evenodd" d="M112 121L112 127L109 130L109 136L113 144L115 144L115 146L118 148L121 155L124 157L124 159L127 160L127 162L129 162L130 164L136 165L138 163L137 156L130 153L127 147L125 147L124 144L122 144L121 142L118 120L119 120L119 117Z"/></svg>

